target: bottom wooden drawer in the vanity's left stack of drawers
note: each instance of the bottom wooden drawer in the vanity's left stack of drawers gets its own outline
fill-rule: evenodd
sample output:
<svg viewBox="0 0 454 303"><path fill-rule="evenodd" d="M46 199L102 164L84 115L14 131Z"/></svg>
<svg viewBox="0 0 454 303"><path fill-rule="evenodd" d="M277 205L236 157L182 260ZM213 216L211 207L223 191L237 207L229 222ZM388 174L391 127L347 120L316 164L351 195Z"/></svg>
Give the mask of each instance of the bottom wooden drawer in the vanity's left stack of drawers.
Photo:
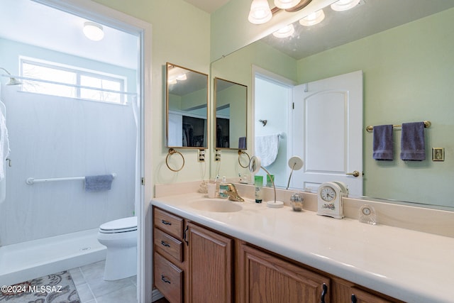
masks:
<svg viewBox="0 0 454 303"><path fill-rule="evenodd" d="M183 301L183 271L155 253L155 285L171 303Z"/></svg>

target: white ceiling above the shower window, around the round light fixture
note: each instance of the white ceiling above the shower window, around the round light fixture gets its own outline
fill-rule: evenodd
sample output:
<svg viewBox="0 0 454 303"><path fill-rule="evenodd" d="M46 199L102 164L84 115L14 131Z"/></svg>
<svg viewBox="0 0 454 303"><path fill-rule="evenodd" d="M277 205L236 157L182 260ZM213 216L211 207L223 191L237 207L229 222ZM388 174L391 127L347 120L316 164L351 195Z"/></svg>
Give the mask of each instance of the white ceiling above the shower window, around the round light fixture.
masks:
<svg viewBox="0 0 454 303"><path fill-rule="evenodd" d="M103 25L104 39L92 41L82 33L85 21L31 0L0 0L0 38L137 69L137 36Z"/></svg>

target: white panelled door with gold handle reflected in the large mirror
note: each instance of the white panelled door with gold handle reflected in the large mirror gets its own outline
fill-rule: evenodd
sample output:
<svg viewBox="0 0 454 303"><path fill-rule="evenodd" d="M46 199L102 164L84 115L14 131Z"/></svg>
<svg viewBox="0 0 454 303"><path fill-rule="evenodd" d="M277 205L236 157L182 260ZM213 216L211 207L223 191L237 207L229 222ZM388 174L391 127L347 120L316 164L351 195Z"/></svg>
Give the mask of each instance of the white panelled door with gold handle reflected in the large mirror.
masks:
<svg viewBox="0 0 454 303"><path fill-rule="evenodd" d="M294 87L293 152L304 160L291 187L341 181L362 195L362 71ZM358 177L348 175L359 172Z"/></svg>

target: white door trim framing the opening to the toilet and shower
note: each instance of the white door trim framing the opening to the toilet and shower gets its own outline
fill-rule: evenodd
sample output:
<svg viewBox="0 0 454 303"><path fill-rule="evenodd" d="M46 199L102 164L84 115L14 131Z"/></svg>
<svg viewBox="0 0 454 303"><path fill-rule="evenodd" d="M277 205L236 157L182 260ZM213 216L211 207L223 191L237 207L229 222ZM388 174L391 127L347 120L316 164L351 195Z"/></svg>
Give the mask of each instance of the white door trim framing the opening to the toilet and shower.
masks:
<svg viewBox="0 0 454 303"><path fill-rule="evenodd" d="M151 114L151 75L152 75L152 26L150 23L141 21L138 18L129 16L126 13L110 9L101 4L89 0L33 0L40 4L51 6L60 11L87 18L91 21L103 23L106 26L116 28L120 31L131 33L140 37L140 56L139 66L139 98L140 98L140 178L145 177L148 184L153 184L152 174L152 154L150 140L145 142L145 111L146 116ZM151 133L152 125L147 123L146 131ZM150 136L150 135L148 135ZM145 155L148 155L145 159ZM147 169L145 170L145 163ZM139 180L140 180L139 178ZM137 290L138 302L148 303L153 301L153 254L152 239L146 231L151 231L151 211L149 211L149 201L153 197L153 188L151 186L140 186L140 213L138 216L138 272L137 272Z"/></svg>

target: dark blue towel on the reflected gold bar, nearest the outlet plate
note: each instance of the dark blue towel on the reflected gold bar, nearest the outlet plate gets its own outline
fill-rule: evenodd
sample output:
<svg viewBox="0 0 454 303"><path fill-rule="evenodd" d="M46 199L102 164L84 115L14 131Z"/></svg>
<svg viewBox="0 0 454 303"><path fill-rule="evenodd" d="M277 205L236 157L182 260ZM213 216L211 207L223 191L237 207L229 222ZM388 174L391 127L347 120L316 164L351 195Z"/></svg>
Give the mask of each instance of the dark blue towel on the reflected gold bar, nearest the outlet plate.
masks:
<svg viewBox="0 0 454 303"><path fill-rule="evenodd" d="M424 141L424 123L402 123L400 158L408 161L426 160L426 143Z"/></svg>

